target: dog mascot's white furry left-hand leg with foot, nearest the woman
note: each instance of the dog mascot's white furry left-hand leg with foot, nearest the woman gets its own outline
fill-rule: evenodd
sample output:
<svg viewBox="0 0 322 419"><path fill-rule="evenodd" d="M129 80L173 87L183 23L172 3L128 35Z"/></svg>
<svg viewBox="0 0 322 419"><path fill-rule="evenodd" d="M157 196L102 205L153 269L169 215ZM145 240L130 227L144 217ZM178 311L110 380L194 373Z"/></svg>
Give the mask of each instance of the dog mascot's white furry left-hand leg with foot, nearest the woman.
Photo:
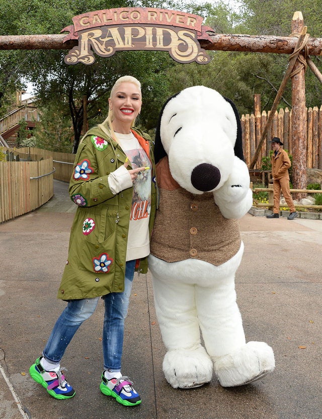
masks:
<svg viewBox="0 0 322 419"><path fill-rule="evenodd" d="M163 372L174 388L198 387L211 381L213 363L200 344L195 286L179 284L176 282L178 278L171 278L170 281L168 276L163 278L156 272L167 273L167 267L153 269L157 264L168 265L150 255L155 311L168 351L163 362Z"/></svg>

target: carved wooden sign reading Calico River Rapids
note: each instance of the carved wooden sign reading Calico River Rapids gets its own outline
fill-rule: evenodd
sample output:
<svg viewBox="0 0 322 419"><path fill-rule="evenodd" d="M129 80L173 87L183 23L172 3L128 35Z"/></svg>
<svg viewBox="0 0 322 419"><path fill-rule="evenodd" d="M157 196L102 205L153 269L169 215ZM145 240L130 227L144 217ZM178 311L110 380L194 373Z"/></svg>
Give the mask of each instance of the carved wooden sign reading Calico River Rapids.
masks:
<svg viewBox="0 0 322 419"><path fill-rule="evenodd" d="M78 40L65 56L66 64L93 64L94 52L110 57L115 51L168 51L178 62L207 64L210 56L199 40L212 42L201 16L168 9L122 8L84 13L72 18L63 42Z"/></svg>

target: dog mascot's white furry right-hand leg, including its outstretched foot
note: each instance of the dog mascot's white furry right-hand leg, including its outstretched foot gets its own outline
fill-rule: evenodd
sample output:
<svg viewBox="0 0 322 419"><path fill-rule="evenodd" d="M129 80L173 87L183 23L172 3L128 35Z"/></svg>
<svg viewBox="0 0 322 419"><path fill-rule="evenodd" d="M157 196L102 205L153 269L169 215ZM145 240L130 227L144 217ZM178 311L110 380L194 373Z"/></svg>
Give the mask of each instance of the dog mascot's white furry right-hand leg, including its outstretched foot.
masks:
<svg viewBox="0 0 322 419"><path fill-rule="evenodd" d="M209 275L213 285L196 287L196 305L207 353L223 387L256 381L274 370L271 347L265 342L245 341L241 315L236 303L233 260L219 267L203 263L199 272ZM238 264L239 265L239 264ZM205 281L204 281L205 282Z"/></svg>

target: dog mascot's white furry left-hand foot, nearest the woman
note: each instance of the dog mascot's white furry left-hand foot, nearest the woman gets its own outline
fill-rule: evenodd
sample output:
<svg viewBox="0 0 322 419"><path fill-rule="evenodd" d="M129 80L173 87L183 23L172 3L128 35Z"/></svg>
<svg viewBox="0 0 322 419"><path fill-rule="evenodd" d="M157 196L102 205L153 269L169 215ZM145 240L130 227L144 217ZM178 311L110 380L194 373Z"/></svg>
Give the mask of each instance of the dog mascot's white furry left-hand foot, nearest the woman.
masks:
<svg viewBox="0 0 322 419"><path fill-rule="evenodd" d="M203 347L168 351L163 361L163 372L173 388L193 388L209 383L212 369L212 361Z"/></svg>

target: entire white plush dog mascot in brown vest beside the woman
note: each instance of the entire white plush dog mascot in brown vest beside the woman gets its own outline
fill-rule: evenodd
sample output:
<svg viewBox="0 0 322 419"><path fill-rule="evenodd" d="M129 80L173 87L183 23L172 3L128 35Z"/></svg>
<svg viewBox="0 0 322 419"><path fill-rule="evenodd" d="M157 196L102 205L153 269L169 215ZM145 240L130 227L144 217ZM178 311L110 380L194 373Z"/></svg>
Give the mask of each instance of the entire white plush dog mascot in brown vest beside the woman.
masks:
<svg viewBox="0 0 322 419"><path fill-rule="evenodd" d="M170 98L155 138L160 192L149 268L174 387L248 384L275 367L264 342L248 342L234 286L243 255L237 218L252 205L234 104L195 86ZM201 345L200 330L204 346Z"/></svg>

